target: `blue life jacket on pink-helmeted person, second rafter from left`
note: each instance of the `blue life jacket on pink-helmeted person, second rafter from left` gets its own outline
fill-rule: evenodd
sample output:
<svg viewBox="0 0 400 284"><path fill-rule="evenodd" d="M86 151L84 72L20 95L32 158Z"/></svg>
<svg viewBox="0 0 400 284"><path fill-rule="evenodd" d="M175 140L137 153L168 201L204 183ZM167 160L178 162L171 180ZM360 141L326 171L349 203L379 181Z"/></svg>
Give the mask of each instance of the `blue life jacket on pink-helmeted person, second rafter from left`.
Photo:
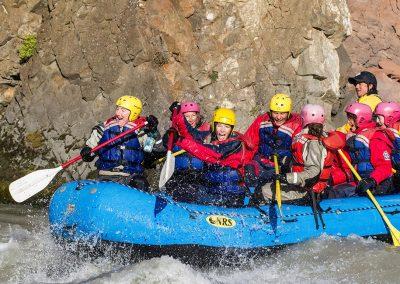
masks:
<svg viewBox="0 0 400 284"><path fill-rule="evenodd" d="M193 135L193 138L197 138L199 142L202 142L202 139L205 139L207 135L210 133L210 124L205 122L196 128L196 135ZM195 140L196 140L195 138ZM201 140L200 140L201 139ZM181 147L175 145L172 148L173 152L177 152L182 150ZM204 162L196 157L188 153L183 153L175 157L175 170L177 171L187 171L187 170L195 170L200 171L204 167Z"/></svg>

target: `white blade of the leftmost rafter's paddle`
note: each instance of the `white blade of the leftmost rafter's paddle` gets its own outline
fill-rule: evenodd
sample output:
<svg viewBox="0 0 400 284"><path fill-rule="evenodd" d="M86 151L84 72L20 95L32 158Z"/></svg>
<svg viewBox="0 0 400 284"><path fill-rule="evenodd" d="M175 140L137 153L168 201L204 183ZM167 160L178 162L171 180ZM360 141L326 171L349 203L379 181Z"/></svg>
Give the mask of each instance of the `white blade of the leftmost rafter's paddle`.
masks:
<svg viewBox="0 0 400 284"><path fill-rule="evenodd" d="M61 170L61 166L54 169L38 170L13 181L9 186L11 197L17 202L27 200L45 189Z"/></svg>

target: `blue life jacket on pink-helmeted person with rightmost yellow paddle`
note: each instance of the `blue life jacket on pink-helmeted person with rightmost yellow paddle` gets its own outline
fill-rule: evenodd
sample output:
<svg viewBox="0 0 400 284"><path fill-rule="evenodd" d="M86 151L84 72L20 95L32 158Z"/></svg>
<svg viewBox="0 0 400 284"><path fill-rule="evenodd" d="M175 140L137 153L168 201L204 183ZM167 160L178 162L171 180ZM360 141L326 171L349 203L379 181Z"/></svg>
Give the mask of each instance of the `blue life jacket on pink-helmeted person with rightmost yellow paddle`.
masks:
<svg viewBox="0 0 400 284"><path fill-rule="evenodd" d="M347 135L346 145L349 149L351 161L356 165L362 178L369 177L374 170L371 164L370 140L376 130L376 128L365 128L357 134L349 133Z"/></svg>

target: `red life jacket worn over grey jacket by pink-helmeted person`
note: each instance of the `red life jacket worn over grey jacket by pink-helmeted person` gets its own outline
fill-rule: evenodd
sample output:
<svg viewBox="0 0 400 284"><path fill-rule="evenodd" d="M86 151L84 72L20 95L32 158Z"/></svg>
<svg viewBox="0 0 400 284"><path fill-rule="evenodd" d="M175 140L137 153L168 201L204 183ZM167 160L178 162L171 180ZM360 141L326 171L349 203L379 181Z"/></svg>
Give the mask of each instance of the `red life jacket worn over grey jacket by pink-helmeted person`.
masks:
<svg viewBox="0 0 400 284"><path fill-rule="evenodd" d="M293 153L293 172L298 173L304 171L303 151L305 144L310 140L318 141L320 139L308 133L298 134L294 137L291 147ZM312 188L315 192L322 192L327 187L328 180L331 175L331 169L335 159L335 153L330 149L325 149L327 151L327 155L324 159L321 173L318 177L308 180L306 182L306 187Z"/></svg>

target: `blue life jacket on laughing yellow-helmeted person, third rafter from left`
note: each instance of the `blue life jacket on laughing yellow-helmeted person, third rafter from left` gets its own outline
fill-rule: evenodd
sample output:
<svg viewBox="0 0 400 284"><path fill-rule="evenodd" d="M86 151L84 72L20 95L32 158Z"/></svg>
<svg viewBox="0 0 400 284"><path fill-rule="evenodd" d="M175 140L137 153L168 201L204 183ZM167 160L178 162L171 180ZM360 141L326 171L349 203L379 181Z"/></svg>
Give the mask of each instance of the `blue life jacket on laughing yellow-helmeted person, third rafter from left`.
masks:
<svg viewBox="0 0 400 284"><path fill-rule="evenodd" d="M213 141L211 144L216 146L216 151L224 153L237 148L238 134L233 132L231 137L225 141ZM243 146L242 146L243 147ZM212 194L244 194L244 188L240 186L241 175L236 169L228 166L206 164L204 169L204 179L207 182L210 193Z"/></svg>

